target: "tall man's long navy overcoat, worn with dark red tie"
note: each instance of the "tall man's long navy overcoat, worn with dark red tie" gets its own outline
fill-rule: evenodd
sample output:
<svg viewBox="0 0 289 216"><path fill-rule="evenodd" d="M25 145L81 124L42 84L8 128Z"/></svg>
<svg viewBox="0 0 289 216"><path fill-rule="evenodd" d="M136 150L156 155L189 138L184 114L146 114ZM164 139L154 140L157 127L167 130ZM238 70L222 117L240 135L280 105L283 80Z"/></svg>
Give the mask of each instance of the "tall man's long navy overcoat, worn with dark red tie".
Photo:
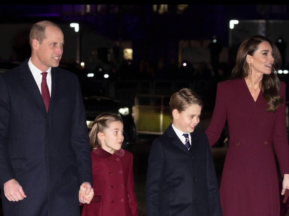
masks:
<svg viewBox="0 0 289 216"><path fill-rule="evenodd" d="M51 68L46 112L26 59L0 75L0 184L4 215L79 215L78 190L92 182L89 137L79 82ZM3 184L16 179L26 198L9 202Z"/></svg>

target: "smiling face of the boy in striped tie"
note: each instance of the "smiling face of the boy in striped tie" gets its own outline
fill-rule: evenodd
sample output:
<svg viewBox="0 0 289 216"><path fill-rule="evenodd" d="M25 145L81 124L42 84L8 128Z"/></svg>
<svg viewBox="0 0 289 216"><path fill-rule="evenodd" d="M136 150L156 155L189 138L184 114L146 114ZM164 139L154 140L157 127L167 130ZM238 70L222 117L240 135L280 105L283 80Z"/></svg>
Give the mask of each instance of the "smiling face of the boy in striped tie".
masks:
<svg viewBox="0 0 289 216"><path fill-rule="evenodd" d="M177 109L172 111L173 124L180 131L192 133L200 122L202 107L198 104L191 104L187 109L180 112Z"/></svg>

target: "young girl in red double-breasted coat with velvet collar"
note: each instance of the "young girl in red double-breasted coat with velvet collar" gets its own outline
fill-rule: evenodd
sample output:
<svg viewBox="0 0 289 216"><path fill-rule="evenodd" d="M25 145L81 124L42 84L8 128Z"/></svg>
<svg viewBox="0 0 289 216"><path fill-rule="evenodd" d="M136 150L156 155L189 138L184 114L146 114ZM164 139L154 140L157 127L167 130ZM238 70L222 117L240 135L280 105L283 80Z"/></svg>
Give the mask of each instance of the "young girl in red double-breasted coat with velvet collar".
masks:
<svg viewBox="0 0 289 216"><path fill-rule="evenodd" d="M82 216L138 216L132 153L121 149L121 116L100 114L89 137L94 196L90 204L84 204Z"/></svg>

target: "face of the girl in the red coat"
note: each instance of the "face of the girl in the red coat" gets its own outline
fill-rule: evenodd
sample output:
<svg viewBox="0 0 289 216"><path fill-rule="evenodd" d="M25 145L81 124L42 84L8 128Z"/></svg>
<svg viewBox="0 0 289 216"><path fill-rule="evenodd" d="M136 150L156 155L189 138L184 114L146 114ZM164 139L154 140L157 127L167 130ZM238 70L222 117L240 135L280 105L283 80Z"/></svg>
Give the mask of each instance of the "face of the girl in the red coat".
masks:
<svg viewBox="0 0 289 216"><path fill-rule="evenodd" d="M98 139L101 142L101 148L113 154L116 150L120 150L123 143L123 123L110 122L109 128L104 133L98 133Z"/></svg>

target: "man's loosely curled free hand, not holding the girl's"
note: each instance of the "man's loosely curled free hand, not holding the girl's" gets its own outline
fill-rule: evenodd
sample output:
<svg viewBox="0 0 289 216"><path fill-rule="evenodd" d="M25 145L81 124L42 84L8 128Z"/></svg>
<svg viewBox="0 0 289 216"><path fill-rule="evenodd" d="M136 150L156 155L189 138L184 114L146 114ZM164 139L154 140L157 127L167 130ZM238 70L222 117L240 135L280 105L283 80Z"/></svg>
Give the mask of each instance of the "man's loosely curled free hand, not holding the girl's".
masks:
<svg viewBox="0 0 289 216"><path fill-rule="evenodd" d="M9 201L13 202L26 198L21 185L15 179L10 179L4 183L4 195Z"/></svg>

